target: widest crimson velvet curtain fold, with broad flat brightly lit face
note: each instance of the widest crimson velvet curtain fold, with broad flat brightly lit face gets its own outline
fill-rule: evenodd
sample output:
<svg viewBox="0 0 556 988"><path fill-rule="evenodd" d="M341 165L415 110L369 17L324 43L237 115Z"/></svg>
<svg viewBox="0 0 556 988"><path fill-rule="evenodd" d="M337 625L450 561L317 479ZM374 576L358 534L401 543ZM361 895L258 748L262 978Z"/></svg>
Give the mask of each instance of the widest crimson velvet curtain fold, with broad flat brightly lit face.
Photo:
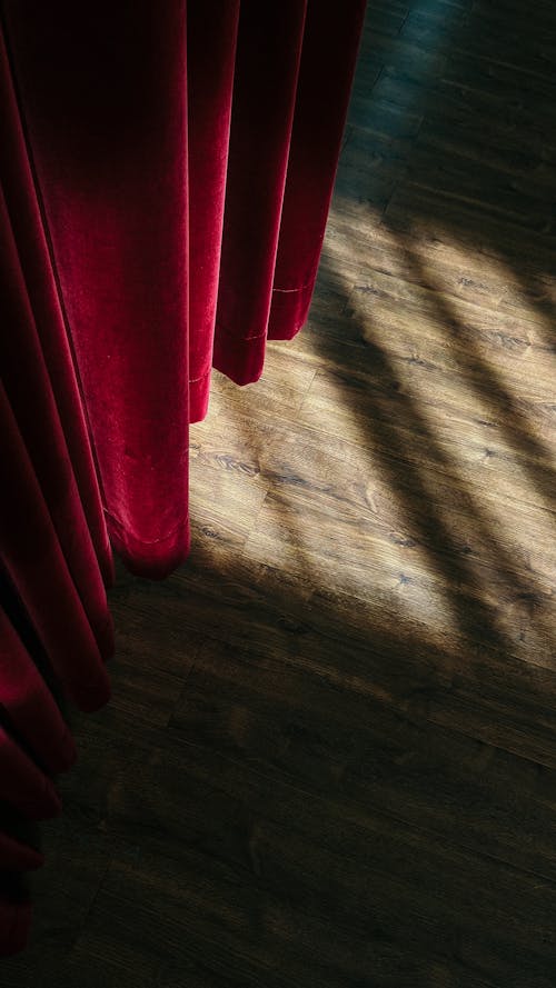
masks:
<svg viewBox="0 0 556 988"><path fill-rule="evenodd" d="M4 9L108 528L165 576L189 545L185 3Z"/></svg>

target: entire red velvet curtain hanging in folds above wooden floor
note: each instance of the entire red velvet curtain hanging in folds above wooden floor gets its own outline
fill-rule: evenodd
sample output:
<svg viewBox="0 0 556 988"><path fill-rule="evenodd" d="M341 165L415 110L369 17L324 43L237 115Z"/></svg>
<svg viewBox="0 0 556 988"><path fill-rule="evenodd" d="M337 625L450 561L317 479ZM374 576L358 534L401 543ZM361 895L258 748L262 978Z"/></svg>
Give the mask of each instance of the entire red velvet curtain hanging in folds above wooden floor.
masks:
<svg viewBox="0 0 556 988"><path fill-rule="evenodd" d="M307 318L364 8L1 3L0 954L76 755L56 698L109 698L112 547L186 558L211 368L256 381Z"/></svg>

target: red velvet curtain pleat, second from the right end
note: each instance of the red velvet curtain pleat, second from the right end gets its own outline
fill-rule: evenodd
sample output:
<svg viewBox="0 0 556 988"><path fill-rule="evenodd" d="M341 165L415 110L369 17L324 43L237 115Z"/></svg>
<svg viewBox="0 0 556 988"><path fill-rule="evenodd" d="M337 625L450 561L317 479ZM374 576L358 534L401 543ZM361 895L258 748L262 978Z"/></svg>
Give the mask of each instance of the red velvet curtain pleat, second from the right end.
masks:
<svg viewBox="0 0 556 988"><path fill-rule="evenodd" d="M262 371L307 3L241 3L214 366Z"/></svg>

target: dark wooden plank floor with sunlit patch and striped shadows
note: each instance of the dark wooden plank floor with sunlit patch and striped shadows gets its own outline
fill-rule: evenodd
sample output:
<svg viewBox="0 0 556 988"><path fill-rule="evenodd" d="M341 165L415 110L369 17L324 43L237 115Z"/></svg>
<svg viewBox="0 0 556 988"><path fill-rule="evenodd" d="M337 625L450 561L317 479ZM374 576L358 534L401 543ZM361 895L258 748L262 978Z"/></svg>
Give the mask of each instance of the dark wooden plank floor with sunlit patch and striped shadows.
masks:
<svg viewBox="0 0 556 988"><path fill-rule="evenodd" d="M371 2L309 325L123 572L2 988L555 988L556 4Z"/></svg>

